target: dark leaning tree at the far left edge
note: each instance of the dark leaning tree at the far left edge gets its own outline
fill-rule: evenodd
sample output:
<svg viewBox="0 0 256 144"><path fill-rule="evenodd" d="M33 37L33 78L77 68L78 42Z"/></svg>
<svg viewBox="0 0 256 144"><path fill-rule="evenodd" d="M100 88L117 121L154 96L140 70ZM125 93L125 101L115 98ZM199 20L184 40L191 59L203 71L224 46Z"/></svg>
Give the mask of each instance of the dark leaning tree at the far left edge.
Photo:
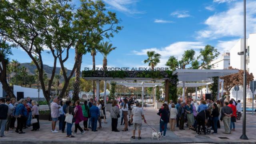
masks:
<svg viewBox="0 0 256 144"><path fill-rule="evenodd" d="M6 80L6 73L8 71L8 56L12 55L11 47L7 44L6 39L0 35L0 82L2 83L4 91L10 96L10 98L16 98L13 94L9 84Z"/></svg>

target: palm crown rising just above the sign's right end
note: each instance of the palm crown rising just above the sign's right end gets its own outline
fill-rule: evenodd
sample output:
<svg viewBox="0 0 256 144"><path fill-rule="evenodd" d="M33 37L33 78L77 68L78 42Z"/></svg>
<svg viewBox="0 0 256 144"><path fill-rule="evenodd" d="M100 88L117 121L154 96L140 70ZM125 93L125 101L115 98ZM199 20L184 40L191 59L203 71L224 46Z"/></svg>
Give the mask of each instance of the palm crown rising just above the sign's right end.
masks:
<svg viewBox="0 0 256 144"><path fill-rule="evenodd" d="M154 67L160 63L160 54L156 54L155 51L147 52L148 59L144 60L144 63L148 63L148 66L151 66L151 70L154 70Z"/></svg>

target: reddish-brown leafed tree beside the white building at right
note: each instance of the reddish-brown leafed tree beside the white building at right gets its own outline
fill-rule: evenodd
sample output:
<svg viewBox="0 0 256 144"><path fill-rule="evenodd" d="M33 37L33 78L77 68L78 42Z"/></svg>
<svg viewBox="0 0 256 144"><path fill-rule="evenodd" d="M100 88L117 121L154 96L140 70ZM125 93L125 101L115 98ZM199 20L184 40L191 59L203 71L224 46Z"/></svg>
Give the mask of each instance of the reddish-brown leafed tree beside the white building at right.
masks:
<svg viewBox="0 0 256 144"><path fill-rule="evenodd" d="M236 68L232 68L232 66L230 66L228 69L237 70ZM239 72L236 74L231 74L229 76L223 76L220 78L224 80L224 89L227 92L227 99L229 100L230 90L236 85L244 85L244 70L239 70ZM246 85L250 84L250 81L252 80L254 80L253 74L249 74L249 72L246 71Z"/></svg>

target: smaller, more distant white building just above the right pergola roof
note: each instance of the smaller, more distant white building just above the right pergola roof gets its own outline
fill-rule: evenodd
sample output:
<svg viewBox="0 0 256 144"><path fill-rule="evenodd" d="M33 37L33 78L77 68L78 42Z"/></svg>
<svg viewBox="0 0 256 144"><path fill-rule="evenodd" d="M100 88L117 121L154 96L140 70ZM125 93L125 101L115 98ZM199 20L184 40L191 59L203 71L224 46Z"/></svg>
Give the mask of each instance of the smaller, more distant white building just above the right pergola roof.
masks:
<svg viewBox="0 0 256 144"><path fill-rule="evenodd" d="M222 56L211 62L213 70L227 69L230 66L230 53L225 52Z"/></svg>

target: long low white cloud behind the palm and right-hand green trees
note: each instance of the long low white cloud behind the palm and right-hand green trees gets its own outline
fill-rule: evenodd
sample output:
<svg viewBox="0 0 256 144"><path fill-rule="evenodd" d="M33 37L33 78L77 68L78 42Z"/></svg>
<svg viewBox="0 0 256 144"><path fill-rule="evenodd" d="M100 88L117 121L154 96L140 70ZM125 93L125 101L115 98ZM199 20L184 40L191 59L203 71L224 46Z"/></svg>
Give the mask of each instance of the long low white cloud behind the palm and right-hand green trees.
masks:
<svg viewBox="0 0 256 144"><path fill-rule="evenodd" d="M197 56L200 48L204 48L204 44L202 42L175 42L164 48L147 48L140 51L134 50L132 52L136 55L146 56L147 51L155 51L156 53L161 54L160 64L158 64L158 67L162 67L165 66L171 55L180 59L185 50L194 49Z"/></svg>

